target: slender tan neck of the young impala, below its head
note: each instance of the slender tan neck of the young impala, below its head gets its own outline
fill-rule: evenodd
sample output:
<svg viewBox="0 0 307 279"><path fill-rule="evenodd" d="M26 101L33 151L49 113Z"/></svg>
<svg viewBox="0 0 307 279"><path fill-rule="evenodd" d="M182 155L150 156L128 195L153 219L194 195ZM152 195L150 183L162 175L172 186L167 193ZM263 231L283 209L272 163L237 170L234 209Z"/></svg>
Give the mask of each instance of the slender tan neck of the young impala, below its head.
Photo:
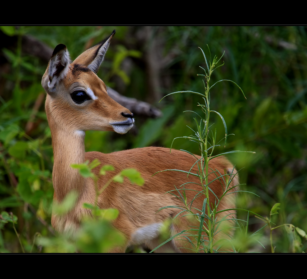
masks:
<svg viewBox="0 0 307 279"><path fill-rule="evenodd" d="M52 126L51 126L52 127ZM78 169L71 164L84 163L84 131L51 129L53 147L52 182L56 199L61 201L66 194L76 191L81 194L84 189L84 178Z"/></svg>

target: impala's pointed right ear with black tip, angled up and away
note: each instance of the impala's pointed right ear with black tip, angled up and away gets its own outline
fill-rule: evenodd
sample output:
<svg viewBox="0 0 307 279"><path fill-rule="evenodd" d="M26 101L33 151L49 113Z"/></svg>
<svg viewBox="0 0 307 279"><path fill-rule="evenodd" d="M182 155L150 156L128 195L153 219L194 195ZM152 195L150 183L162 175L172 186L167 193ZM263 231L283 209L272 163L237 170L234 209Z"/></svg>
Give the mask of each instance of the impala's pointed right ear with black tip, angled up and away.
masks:
<svg viewBox="0 0 307 279"><path fill-rule="evenodd" d="M114 34L115 30L113 30L108 38L80 54L73 63L87 66L87 68L97 74Z"/></svg>

